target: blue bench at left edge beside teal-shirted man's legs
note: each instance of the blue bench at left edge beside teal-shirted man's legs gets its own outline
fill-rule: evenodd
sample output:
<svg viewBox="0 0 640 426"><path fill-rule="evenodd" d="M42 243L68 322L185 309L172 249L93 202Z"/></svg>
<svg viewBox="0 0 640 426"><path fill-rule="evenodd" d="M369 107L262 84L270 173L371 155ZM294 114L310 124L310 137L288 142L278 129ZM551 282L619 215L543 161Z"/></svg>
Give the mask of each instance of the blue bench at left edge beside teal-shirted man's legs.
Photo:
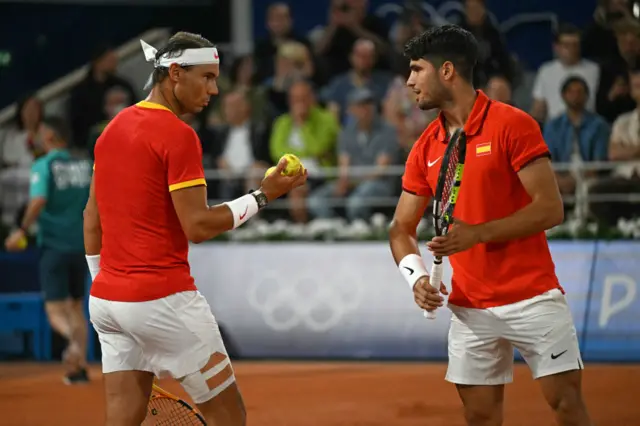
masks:
<svg viewBox="0 0 640 426"><path fill-rule="evenodd" d="M38 361L51 359L51 328L40 293L0 294L0 333L29 333Z"/></svg>

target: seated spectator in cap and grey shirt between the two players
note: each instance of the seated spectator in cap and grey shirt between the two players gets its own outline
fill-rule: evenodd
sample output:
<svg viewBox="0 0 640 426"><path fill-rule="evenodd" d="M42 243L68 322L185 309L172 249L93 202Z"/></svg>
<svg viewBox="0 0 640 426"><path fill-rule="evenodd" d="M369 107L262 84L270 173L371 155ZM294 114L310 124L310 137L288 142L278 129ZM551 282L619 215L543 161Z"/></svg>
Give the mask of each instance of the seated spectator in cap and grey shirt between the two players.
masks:
<svg viewBox="0 0 640 426"><path fill-rule="evenodd" d="M353 120L338 138L339 177L309 197L309 209L317 218L333 216L330 200L346 197L348 219L368 219L371 198L393 196L394 180L385 176L385 168L399 160L395 129L376 113L375 96L369 89L349 95L349 113ZM353 173L352 167L358 166L373 170Z"/></svg>

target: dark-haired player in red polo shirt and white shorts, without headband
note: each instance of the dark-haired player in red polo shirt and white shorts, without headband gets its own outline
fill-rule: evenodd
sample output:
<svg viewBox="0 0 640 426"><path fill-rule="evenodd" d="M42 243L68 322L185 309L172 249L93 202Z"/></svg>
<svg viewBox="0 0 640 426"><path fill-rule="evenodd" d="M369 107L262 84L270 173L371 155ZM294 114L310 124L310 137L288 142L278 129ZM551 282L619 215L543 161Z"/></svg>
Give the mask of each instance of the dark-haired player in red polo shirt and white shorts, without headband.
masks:
<svg viewBox="0 0 640 426"><path fill-rule="evenodd" d="M502 424L516 347L558 424L588 426L576 330L544 233L562 222L563 207L539 126L473 88L478 45L460 27L430 29L405 53L418 106L441 112L409 154L390 242L416 303L428 312L442 306L447 290L429 284L416 226L447 166L449 135L462 129L466 137L455 221L427 246L453 267L446 379L457 386L467 424Z"/></svg>

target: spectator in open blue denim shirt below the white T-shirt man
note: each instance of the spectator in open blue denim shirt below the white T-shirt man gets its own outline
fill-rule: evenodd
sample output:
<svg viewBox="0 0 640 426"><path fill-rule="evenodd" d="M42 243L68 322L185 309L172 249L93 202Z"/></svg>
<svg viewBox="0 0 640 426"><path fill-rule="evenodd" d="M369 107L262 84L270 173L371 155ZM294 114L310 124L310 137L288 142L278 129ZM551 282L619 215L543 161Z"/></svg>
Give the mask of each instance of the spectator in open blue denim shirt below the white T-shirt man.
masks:
<svg viewBox="0 0 640 426"><path fill-rule="evenodd" d="M550 120L544 127L544 139L556 163L577 165L591 161L607 161L610 128L606 120L586 109L589 86L578 76L565 80L561 89L566 111ZM584 177L595 176L584 172ZM575 176L568 172L556 174L560 192L571 194L575 190Z"/></svg>

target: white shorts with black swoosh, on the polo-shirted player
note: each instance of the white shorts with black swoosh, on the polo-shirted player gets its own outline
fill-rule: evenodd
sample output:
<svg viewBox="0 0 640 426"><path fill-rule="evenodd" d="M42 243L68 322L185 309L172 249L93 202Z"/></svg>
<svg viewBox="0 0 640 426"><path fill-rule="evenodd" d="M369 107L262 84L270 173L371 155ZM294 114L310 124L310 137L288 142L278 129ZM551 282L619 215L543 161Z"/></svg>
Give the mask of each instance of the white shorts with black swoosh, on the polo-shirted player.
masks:
<svg viewBox="0 0 640 426"><path fill-rule="evenodd" d="M514 347L535 379L583 368L571 311L558 289L495 308L449 307L449 382L510 383Z"/></svg>

